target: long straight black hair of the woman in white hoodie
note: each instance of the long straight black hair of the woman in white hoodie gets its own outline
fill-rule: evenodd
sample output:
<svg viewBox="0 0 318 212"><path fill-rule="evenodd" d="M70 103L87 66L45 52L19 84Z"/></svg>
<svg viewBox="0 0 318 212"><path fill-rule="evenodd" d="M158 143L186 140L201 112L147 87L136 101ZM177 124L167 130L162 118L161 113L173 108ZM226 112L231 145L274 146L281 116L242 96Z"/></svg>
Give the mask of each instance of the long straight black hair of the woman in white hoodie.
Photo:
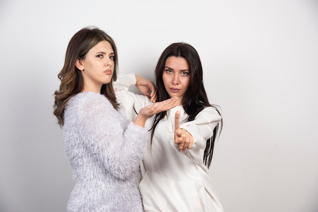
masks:
<svg viewBox="0 0 318 212"><path fill-rule="evenodd" d="M194 47L186 43L173 43L168 46L161 54L155 68L155 84L157 87L156 101L163 101L170 98L168 92L165 89L163 72L165 69L166 60L171 56L184 58L187 61L190 70L190 84L182 98L183 109L188 114L187 121L193 121L196 116L206 107L214 107L218 114L221 115L219 107L209 103L203 85L203 70L199 54ZM150 129L151 144L156 126L166 115L166 111L155 115L152 127ZM210 167L213 156L214 142L221 133L222 124L223 120L221 119L221 121L213 129L213 136L206 141L203 162L207 167Z"/></svg>

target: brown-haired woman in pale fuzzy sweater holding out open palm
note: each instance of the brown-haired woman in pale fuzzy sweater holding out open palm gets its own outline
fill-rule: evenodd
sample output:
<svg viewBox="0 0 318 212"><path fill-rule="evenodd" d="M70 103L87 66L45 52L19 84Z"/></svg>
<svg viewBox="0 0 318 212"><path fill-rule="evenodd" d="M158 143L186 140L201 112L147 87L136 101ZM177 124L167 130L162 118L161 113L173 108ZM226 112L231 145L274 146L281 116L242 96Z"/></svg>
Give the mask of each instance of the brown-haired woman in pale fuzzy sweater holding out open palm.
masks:
<svg viewBox="0 0 318 212"><path fill-rule="evenodd" d="M54 115L63 129L75 187L68 211L142 211L139 163L147 144L146 120L176 106L177 97L150 104L134 122L118 110L114 41L98 28L83 28L67 48L58 74Z"/></svg>

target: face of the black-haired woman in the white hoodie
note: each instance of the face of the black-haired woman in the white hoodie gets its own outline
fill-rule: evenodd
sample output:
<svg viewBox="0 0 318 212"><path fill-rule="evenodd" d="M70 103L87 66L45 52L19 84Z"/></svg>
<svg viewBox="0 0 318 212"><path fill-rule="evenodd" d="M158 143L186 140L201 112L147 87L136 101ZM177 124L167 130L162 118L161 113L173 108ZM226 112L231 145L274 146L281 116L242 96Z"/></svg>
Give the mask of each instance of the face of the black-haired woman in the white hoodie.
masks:
<svg viewBox="0 0 318 212"><path fill-rule="evenodd" d="M190 84L190 70L187 61L183 57L170 56L166 60L163 72L163 81L170 97L178 96L178 104Z"/></svg>

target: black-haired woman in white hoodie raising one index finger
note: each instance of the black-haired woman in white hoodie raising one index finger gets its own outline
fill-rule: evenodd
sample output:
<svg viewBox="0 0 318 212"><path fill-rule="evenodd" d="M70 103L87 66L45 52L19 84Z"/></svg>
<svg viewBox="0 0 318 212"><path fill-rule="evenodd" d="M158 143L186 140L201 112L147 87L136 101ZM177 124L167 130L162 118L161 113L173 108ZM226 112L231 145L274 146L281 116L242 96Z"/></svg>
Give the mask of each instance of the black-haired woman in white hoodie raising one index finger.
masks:
<svg viewBox="0 0 318 212"><path fill-rule="evenodd" d="M128 92L142 80L129 74L115 83L126 116L151 103ZM222 128L219 109L208 101L198 52L185 43L168 46L155 68L156 101L178 96L178 106L150 117L151 131L140 168L144 211L224 211L208 175L214 142Z"/></svg>

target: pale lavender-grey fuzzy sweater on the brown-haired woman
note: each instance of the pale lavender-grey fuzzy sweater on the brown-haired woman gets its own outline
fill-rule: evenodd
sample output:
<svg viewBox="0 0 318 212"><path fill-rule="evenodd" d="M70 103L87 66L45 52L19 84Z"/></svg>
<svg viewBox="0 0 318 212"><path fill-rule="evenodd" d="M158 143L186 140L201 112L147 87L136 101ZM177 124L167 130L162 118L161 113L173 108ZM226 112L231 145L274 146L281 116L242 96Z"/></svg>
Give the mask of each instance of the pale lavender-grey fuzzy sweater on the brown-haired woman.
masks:
<svg viewBox="0 0 318 212"><path fill-rule="evenodd" d="M75 181L68 211L142 211L138 183L146 129L104 95L82 92L65 107L63 136Z"/></svg>

